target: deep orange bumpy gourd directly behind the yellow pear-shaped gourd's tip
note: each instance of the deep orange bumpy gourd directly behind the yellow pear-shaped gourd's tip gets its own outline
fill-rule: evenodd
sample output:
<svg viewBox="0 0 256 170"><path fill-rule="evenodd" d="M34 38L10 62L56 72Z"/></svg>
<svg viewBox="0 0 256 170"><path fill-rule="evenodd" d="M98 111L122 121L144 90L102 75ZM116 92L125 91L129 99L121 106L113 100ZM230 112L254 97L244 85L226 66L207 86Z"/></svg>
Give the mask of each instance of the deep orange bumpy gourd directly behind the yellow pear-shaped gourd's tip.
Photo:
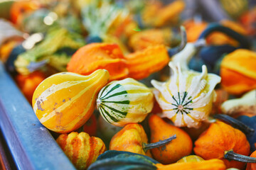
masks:
<svg viewBox="0 0 256 170"><path fill-rule="evenodd" d="M96 69L107 69L110 80L124 79L128 69L119 45L91 43L80 47L68 63L68 72L88 75Z"/></svg>

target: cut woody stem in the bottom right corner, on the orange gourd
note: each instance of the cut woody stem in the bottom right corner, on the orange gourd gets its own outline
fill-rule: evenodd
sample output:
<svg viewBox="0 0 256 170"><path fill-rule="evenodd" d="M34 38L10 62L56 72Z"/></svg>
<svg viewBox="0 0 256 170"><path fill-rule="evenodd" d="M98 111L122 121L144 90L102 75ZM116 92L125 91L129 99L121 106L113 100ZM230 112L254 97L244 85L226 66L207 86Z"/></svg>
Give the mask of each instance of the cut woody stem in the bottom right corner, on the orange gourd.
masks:
<svg viewBox="0 0 256 170"><path fill-rule="evenodd" d="M224 158L228 159L229 161L238 161L238 162L247 162L247 163L256 163L255 157L247 157L242 154L237 154L233 152L233 150L225 151Z"/></svg>

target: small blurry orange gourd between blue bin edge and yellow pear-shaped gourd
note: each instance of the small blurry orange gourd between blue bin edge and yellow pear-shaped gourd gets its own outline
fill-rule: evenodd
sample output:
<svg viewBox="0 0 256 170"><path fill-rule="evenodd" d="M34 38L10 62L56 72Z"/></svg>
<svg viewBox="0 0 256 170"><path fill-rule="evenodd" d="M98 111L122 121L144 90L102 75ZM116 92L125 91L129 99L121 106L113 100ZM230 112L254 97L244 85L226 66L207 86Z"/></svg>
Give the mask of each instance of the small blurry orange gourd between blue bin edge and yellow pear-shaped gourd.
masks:
<svg viewBox="0 0 256 170"><path fill-rule="evenodd" d="M28 75L17 74L15 77L18 87L29 103L32 103L33 92L44 79L46 79L46 74L40 71Z"/></svg>

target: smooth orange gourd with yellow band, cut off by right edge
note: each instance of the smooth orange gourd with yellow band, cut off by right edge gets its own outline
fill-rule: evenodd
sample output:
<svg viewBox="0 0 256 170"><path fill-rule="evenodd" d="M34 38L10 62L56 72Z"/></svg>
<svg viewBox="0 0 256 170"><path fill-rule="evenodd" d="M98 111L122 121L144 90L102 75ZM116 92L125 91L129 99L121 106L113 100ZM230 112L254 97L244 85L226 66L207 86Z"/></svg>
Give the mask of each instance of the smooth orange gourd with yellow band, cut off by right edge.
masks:
<svg viewBox="0 0 256 170"><path fill-rule="evenodd" d="M256 89L255 65L256 52L238 49L226 55L220 64L223 89L235 95Z"/></svg>

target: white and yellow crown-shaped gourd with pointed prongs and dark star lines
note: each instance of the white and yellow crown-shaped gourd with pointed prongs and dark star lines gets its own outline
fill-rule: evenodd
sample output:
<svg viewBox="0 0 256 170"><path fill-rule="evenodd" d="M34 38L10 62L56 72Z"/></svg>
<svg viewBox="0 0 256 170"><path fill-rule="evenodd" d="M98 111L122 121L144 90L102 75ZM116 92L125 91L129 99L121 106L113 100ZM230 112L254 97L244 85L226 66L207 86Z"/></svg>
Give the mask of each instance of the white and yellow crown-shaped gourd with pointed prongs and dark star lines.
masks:
<svg viewBox="0 0 256 170"><path fill-rule="evenodd" d="M163 110L161 117L171 119L178 127L197 128L208 119L215 97L214 88L220 77L208 74L205 65L201 74L179 63L170 62L169 66L173 72L169 81L151 81L157 89L153 91L156 101Z"/></svg>

